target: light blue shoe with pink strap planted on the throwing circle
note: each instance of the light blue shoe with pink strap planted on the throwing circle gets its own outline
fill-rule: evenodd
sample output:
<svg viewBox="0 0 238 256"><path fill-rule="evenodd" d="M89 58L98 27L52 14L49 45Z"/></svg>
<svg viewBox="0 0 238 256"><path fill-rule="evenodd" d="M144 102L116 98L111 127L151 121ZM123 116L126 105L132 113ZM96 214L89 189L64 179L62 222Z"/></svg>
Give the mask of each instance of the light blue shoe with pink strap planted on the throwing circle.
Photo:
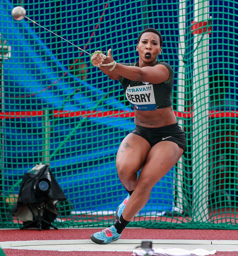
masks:
<svg viewBox="0 0 238 256"><path fill-rule="evenodd" d="M91 240L96 244L110 244L120 237L121 234L117 233L117 229L113 225L90 236Z"/></svg>

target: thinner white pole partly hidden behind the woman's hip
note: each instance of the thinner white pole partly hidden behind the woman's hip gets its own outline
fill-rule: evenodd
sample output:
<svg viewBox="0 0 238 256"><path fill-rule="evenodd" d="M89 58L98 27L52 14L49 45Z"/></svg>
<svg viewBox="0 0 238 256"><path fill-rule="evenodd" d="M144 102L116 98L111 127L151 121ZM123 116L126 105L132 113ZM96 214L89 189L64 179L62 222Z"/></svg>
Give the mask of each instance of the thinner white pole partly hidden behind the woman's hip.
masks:
<svg viewBox="0 0 238 256"><path fill-rule="evenodd" d="M179 0L179 73L178 73L178 112L184 112L185 106L185 67L184 67L184 53L185 53L185 28L186 28L186 0ZM178 118L178 124L183 128L183 119ZM177 179L177 211L183 212L183 158L181 157L176 167Z"/></svg>

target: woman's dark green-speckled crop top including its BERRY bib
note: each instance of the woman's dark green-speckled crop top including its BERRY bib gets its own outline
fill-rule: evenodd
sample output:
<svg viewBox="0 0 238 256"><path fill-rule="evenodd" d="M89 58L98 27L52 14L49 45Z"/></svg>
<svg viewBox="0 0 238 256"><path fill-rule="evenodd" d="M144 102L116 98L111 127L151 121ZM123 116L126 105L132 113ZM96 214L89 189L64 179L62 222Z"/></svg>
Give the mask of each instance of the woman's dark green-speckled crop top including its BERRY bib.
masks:
<svg viewBox="0 0 238 256"><path fill-rule="evenodd" d="M119 63L125 66L139 67L139 61L134 63ZM163 60L157 60L155 65L164 65L169 70L169 79L160 84L132 81L121 77L121 83L127 100L136 110L155 110L172 106L173 68ZM155 66L154 65L154 66Z"/></svg>

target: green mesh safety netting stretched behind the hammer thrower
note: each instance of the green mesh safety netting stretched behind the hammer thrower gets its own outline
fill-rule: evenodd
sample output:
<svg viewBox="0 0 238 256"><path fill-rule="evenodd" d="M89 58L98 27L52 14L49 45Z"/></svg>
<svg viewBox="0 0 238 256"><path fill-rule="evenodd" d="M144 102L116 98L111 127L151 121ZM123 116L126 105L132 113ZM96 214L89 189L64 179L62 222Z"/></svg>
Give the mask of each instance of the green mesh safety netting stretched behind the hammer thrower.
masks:
<svg viewBox="0 0 238 256"><path fill-rule="evenodd" d="M159 58L174 69L173 108L187 150L129 226L236 229L238 4L73 2L1 0L0 228L21 225L9 212L24 173L39 163L50 165L68 199L56 226L114 223L126 196L116 153L134 127L119 82L49 31L13 20L12 8L22 4L27 17L87 52L111 48L117 62L138 60L144 28L160 30Z"/></svg>

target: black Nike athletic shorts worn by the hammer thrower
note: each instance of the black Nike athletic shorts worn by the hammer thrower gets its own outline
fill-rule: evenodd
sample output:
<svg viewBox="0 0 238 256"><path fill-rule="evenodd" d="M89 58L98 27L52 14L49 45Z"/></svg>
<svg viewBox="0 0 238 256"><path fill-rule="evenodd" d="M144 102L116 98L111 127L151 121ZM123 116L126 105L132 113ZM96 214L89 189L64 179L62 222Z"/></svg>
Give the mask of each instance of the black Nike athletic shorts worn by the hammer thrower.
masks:
<svg viewBox="0 0 238 256"><path fill-rule="evenodd" d="M131 133L139 135L147 140L151 147L160 141L173 141L178 144L184 152L186 150L186 136L178 123L158 128L147 128L136 125Z"/></svg>

